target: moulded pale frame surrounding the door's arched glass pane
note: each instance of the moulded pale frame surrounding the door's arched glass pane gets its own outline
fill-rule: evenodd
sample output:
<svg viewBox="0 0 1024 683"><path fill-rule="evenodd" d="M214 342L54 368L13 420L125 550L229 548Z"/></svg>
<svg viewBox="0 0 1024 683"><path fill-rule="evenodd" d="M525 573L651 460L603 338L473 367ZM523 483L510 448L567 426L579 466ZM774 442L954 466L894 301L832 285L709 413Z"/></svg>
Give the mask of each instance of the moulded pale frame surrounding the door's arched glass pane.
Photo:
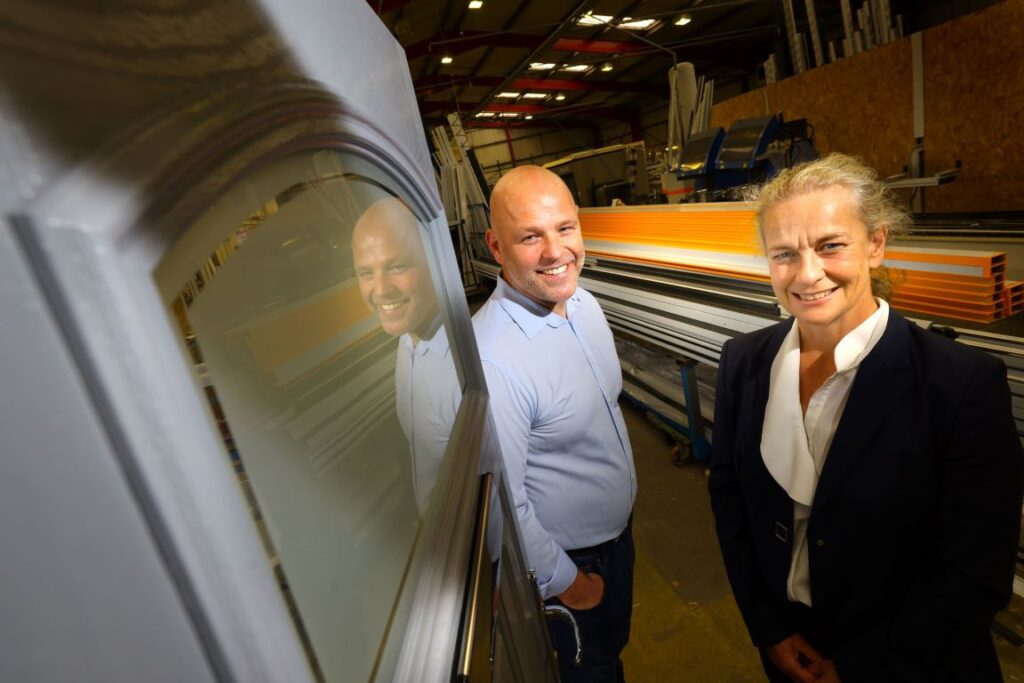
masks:
<svg viewBox="0 0 1024 683"><path fill-rule="evenodd" d="M224 189L305 150L372 161L429 225L426 250L440 273L438 301L465 392L449 471L464 474L439 482L444 505L436 525L424 529L428 554L419 560L403 651L430 654L416 656L417 680L447 680L486 400L446 221L402 151L312 84L221 90L154 118L11 220L215 675L246 683L311 680L153 274Z"/></svg>

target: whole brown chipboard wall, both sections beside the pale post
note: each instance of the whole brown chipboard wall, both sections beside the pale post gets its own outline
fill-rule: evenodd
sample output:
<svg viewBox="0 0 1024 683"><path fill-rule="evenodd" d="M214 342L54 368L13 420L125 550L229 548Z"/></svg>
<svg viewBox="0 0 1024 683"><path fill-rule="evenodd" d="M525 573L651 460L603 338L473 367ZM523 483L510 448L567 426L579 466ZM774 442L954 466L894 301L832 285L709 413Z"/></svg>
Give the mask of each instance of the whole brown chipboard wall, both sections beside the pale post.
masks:
<svg viewBox="0 0 1024 683"><path fill-rule="evenodd" d="M924 32L926 173L964 164L929 188L926 210L1024 210L1024 0L1006 0ZM807 118L820 152L899 173L913 148L909 38L805 72L712 110L712 125L782 112Z"/></svg>

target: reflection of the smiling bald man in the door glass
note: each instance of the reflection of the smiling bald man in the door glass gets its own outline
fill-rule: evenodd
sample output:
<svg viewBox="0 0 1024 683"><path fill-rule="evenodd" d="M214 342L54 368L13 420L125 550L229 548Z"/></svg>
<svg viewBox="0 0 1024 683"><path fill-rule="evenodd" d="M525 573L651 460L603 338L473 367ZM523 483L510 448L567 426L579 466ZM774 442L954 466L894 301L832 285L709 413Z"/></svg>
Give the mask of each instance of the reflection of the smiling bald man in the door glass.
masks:
<svg viewBox="0 0 1024 683"><path fill-rule="evenodd" d="M416 216L393 197L375 202L352 230L362 302L399 337L395 410L413 457L413 486L426 509L459 409L461 390Z"/></svg>

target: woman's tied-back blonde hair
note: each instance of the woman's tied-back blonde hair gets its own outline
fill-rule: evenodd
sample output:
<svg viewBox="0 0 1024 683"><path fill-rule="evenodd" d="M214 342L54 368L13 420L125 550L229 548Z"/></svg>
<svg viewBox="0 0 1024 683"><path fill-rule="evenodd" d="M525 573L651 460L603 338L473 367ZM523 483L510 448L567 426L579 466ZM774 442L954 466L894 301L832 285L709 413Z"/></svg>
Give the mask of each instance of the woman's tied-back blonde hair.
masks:
<svg viewBox="0 0 1024 683"><path fill-rule="evenodd" d="M867 226L867 233L885 230L887 239L904 234L910 226L910 215L899 199L879 180L878 173L856 157L830 154L816 161L784 169L760 187L748 193L758 216L758 231L764 242L764 214L769 208L816 189L841 185L850 190L853 208ZM892 281L885 267L871 271L871 293L888 299Z"/></svg>

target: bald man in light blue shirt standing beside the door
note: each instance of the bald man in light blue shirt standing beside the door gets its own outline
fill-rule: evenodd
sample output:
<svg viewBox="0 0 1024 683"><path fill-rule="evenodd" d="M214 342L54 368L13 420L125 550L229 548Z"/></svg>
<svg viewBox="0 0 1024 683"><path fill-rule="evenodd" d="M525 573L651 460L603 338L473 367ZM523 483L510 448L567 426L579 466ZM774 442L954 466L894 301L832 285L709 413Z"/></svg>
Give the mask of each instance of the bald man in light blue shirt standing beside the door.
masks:
<svg viewBox="0 0 1024 683"><path fill-rule="evenodd" d="M502 271L473 326L526 557L542 596L580 625L574 667L571 631L551 624L562 681L623 681L636 472L611 331L577 286L578 209L557 175L520 166L495 185L490 212Z"/></svg>

